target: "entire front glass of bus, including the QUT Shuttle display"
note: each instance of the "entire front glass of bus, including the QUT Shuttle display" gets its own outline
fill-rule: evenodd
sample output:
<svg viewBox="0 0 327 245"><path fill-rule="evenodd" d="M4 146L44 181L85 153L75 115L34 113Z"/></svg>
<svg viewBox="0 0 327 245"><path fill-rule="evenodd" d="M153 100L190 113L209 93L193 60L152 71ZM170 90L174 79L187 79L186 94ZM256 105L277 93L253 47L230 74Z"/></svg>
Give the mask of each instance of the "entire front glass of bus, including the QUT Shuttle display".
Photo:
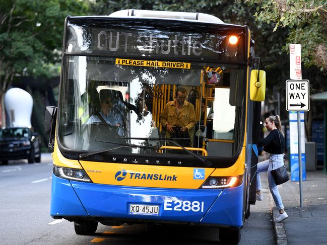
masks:
<svg viewBox="0 0 327 245"><path fill-rule="evenodd" d="M89 25L70 20L59 145L71 152L110 149L160 157L180 154L183 150L174 147L182 145L217 160L236 155L244 133L244 29L230 28L238 35L232 47L227 29L218 24L186 24L169 21L166 31L167 21L138 26L137 20L126 20L109 28L103 20ZM200 33L205 25L208 32ZM187 113L178 114L177 107L165 110L168 102L176 105L181 88ZM165 124L174 113L178 122L173 133L167 132ZM183 122L186 134L181 133ZM119 147L124 145L140 147Z"/></svg>

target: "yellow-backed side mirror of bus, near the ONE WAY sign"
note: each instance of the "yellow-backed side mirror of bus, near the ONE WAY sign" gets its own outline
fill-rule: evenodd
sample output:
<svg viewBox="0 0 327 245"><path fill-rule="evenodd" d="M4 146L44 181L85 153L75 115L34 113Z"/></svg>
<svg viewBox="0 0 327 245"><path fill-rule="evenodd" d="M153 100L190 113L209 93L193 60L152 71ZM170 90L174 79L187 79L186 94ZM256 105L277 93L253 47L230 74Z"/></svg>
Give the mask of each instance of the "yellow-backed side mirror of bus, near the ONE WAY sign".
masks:
<svg viewBox="0 0 327 245"><path fill-rule="evenodd" d="M264 101L266 95L266 71L251 70L250 100Z"/></svg>

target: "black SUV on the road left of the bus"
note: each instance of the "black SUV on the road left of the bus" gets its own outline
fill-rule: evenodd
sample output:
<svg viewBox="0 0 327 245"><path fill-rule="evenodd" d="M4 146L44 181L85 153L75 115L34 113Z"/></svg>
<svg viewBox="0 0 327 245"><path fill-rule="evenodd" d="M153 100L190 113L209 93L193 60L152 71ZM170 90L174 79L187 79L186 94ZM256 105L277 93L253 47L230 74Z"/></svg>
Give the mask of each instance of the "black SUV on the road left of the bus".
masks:
<svg viewBox="0 0 327 245"><path fill-rule="evenodd" d="M41 161L41 139L30 128L10 127L0 130L0 161L28 159L28 163Z"/></svg>

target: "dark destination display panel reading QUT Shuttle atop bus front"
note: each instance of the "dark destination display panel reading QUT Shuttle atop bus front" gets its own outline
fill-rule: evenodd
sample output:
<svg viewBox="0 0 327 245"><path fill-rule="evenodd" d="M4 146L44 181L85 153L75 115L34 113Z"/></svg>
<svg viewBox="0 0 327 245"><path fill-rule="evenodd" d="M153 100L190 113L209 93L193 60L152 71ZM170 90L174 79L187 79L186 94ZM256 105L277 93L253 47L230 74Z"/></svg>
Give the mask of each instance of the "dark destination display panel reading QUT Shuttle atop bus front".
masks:
<svg viewBox="0 0 327 245"><path fill-rule="evenodd" d="M115 57L243 61L245 27L208 23L155 23L96 19L79 25L69 20L66 52L99 53ZM77 23L73 23L77 22ZM110 22L110 23L109 23ZM112 23L111 23L112 22ZM144 22L144 23L143 23ZM176 24L177 23L177 24ZM235 35L236 44L228 37ZM83 45L81 45L83 43Z"/></svg>

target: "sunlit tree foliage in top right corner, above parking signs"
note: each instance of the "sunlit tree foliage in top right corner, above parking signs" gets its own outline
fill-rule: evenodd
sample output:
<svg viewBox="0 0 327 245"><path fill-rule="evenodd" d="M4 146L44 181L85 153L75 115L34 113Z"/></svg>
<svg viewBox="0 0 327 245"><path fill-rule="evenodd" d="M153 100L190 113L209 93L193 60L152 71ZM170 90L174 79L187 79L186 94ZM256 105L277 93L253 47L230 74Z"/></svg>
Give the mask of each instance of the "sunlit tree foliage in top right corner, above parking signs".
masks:
<svg viewBox="0 0 327 245"><path fill-rule="evenodd" d="M302 60L306 67L317 66L327 71L327 1L326 0L245 0L257 5L255 17L278 28L290 28L287 44L302 44ZM288 46L284 50L288 52Z"/></svg>

